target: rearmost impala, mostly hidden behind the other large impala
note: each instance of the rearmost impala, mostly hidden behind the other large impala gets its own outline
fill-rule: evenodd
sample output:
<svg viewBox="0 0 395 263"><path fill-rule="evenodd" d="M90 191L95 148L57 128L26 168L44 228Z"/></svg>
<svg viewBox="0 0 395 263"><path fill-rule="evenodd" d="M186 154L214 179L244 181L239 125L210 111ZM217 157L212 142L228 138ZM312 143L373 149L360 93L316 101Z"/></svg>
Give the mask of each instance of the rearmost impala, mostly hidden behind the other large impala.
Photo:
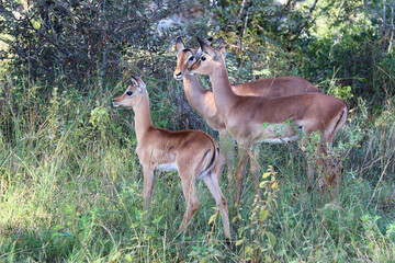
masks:
<svg viewBox="0 0 395 263"><path fill-rule="evenodd" d="M235 141L226 129L223 117L214 103L212 90L203 89L198 78L190 75L188 67L196 61L196 50L185 48L181 37L177 38L177 68L173 77L183 81L185 96L192 108L194 108L213 129L218 130L219 148L223 157L223 163L228 165L228 180L232 178L232 170L235 157ZM281 77L271 79L261 79L248 83L233 84L232 90L238 95L255 96L284 96L301 94L306 92L318 92L318 89L305 79L298 77ZM257 156L257 152L255 152ZM256 162L250 162L251 173L257 174L259 169ZM256 182L256 186L257 182Z"/></svg>

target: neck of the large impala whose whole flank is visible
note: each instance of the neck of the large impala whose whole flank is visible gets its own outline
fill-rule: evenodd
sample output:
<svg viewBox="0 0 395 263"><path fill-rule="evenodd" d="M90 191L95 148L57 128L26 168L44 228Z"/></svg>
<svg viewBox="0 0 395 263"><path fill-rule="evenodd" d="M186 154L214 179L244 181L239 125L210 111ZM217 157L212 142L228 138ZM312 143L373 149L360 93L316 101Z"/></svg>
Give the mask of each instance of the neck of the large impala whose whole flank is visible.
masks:
<svg viewBox="0 0 395 263"><path fill-rule="evenodd" d="M237 100L237 95L233 92L226 67L217 67L212 75L210 80L213 85L213 92L215 105L221 115L225 116L227 108L234 104Z"/></svg>

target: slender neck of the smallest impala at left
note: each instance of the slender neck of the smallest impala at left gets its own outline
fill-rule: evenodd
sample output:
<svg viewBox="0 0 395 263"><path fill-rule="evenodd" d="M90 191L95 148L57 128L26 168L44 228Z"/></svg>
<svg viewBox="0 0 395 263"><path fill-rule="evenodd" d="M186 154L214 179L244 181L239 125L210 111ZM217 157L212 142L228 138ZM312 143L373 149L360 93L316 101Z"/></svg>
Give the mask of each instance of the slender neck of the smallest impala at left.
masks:
<svg viewBox="0 0 395 263"><path fill-rule="evenodd" d="M133 107L135 112L135 130L137 141L144 137L144 134L151 128L153 119L149 112L149 99L148 93L145 91L145 94L142 95L139 102Z"/></svg>

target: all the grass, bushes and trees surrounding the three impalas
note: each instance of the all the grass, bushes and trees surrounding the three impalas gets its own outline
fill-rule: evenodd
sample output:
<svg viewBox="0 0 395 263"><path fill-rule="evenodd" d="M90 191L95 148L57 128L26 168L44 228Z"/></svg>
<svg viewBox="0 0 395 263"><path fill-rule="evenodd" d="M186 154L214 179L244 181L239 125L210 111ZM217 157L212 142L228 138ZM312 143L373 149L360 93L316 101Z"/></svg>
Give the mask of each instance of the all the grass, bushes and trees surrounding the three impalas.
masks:
<svg viewBox="0 0 395 263"><path fill-rule="evenodd" d="M273 2L0 0L0 261L393 261L395 1ZM158 174L143 220L133 113L111 99L137 72L154 124L216 137L172 78L176 37L196 35L225 38L234 82L300 76L348 103L335 201L307 192L296 145L261 145L263 198L248 178L230 247L200 181L200 210L177 232L176 173ZM234 183L222 188L233 216Z"/></svg>

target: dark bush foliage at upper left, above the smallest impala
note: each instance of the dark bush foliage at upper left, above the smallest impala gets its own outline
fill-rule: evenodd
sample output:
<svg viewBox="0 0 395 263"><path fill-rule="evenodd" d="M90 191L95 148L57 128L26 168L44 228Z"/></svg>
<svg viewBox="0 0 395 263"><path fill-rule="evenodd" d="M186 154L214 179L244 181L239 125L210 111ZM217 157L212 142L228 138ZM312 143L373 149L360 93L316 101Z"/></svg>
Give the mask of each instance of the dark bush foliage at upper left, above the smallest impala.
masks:
<svg viewBox="0 0 395 263"><path fill-rule="evenodd" d="M156 70L154 54L169 46L169 35L157 30L168 16L193 8L190 1L2 1L1 41L5 57L30 80L67 82L83 88L92 77L101 87L120 78L127 53L145 53L139 67ZM173 28L173 31L180 31ZM11 36L11 37L8 37ZM162 59L160 59L163 62Z"/></svg>

